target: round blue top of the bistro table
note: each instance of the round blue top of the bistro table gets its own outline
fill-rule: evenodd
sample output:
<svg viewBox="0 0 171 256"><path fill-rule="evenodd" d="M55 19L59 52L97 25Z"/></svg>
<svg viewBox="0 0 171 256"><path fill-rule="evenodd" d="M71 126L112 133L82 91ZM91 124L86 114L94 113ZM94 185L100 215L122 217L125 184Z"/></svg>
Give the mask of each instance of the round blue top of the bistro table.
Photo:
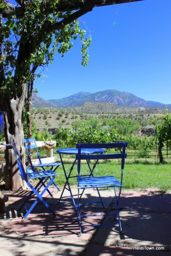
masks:
<svg viewBox="0 0 171 256"><path fill-rule="evenodd" d="M103 153L103 148L81 148L81 154ZM58 154L78 154L78 148L61 148L56 151Z"/></svg>

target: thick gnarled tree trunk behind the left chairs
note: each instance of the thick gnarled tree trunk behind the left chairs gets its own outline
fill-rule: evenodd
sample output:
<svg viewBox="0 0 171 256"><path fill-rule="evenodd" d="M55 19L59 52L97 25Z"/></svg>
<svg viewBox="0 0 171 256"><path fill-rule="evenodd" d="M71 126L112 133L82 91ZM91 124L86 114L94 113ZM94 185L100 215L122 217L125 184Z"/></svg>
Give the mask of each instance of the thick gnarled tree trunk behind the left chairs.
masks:
<svg viewBox="0 0 171 256"><path fill-rule="evenodd" d="M5 95L1 99L1 108L6 111L4 116L6 143L11 143L14 139L17 150L20 154L23 166L25 168L25 148L23 145L23 106L25 99L26 84L23 85L23 92L18 98L17 96L9 98ZM20 177L17 166L16 157L12 148L6 147L5 152L6 166L4 169L6 190L17 191L25 188L25 184Z"/></svg>

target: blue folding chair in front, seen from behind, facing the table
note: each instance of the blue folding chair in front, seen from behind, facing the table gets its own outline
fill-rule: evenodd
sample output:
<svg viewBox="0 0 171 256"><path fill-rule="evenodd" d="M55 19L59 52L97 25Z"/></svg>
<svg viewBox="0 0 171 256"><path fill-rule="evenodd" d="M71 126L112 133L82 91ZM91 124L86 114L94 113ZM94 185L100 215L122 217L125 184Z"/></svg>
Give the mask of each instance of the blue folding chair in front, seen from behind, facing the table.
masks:
<svg viewBox="0 0 171 256"><path fill-rule="evenodd" d="M100 215L81 215L80 208L81 206L84 206L85 204L80 204L80 189L104 189L104 188L109 188L113 187L114 188L114 196L115 196L115 202L116 202L116 210L114 214L108 214L108 215L114 215L114 219L118 220L119 224L119 230L120 233L124 233L122 231L121 227L121 221L120 221L120 216L119 216L119 199L121 195L121 190L122 190L122 177L123 177L123 169L124 169L124 163L125 163L125 158L127 154L125 154L125 148L128 146L128 143L123 142L123 143L100 143L100 144L76 144L76 148L78 148L78 154L76 155L76 159L78 160L78 177L77 177L77 184L78 184L78 204L76 205L77 209L77 219L79 223L79 228L80 228L80 235L81 236L81 231L82 227L84 226L99 226L103 224L86 224L83 225L81 218L83 217L91 217L91 216L104 216L106 214L100 214ZM81 149L82 148L119 148L120 152L122 153L112 153L112 154L81 154ZM81 160L107 160L107 159L121 159L121 179L118 181L115 176L103 176L103 177L81 177ZM116 188L119 188L119 193L117 195L116 193ZM102 203L102 202L101 202ZM89 204L94 204L89 203ZM89 205L86 204L86 205ZM103 206L103 204L102 204ZM106 224L105 224L106 225Z"/></svg>

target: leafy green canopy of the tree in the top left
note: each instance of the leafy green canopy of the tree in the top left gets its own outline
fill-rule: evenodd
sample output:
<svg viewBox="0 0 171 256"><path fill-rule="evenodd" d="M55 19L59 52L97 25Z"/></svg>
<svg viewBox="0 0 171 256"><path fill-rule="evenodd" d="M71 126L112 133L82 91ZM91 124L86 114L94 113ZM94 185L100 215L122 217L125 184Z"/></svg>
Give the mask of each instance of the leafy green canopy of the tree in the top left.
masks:
<svg viewBox="0 0 171 256"><path fill-rule="evenodd" d="M20 18L17 18L13 11L8 17L1 17L1 94L6 92L13 96L17 91L20 96L22 84L27 83L30 78L31 72L28 70L52 63L56 51L64 56L76 38L80 38L82 43L82 64L87 65L87 49L91 38L85 38L85 30L80 29L75 18L79 16L75 15L77 12L57 11L55 6L59 3L58 0L49 1L48 6L46 1L44 4L43 2L26 1L25 12ZM72 4L72 1L70 2ZM9 4L3 1L0 4L0 12L6 9L9 9ZM37 73L37 76L40 74ZM18 84L18 80L22 81Z"/></svg>

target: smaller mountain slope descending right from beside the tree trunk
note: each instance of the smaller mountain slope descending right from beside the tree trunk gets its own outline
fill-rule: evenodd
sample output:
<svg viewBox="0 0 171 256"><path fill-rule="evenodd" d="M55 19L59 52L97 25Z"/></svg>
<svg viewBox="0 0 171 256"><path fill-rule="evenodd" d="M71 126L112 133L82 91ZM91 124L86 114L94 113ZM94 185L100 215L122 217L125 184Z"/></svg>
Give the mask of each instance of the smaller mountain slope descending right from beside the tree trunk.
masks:
<svg viewBox="0 0 171 256"><path fill-rule="evenodd" d="M55 104L39 97L36 93L32 94L32 108L57 108Z"/></svg>

